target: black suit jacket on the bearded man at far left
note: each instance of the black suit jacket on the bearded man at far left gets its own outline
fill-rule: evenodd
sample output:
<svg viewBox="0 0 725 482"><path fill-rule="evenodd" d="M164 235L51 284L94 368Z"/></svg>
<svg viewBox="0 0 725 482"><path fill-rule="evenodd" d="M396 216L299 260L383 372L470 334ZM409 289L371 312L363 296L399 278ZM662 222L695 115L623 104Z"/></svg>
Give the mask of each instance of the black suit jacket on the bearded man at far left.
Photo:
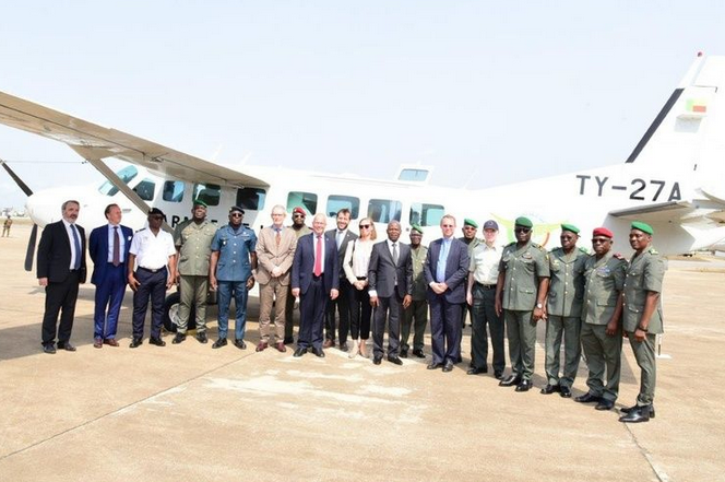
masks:
<svg viewBox="0 0 725 482"><path fill-rule="evenodd" d="M85 283L85 230L75 225L81 238L81 283ZM37 278L47 278L51 283L62 283L71 273L71 242L62 220L50 223L43 230L38 244Z"/></svg>

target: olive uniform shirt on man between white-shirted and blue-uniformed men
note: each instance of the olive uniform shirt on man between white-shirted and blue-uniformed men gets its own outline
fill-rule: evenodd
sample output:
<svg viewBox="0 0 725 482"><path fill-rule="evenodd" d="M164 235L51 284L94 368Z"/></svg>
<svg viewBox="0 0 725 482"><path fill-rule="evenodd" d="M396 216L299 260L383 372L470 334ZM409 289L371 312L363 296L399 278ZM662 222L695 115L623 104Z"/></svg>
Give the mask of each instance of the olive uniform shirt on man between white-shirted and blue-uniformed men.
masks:
<svg viewBox="0 0 725 482"><path fill-rule="evenodd" d="M187 220L176 226L174 244L179 248L179 274L209 275L209 259L212 256L212 239L215 234L216 225L206 220L199 224Z"/></svg>

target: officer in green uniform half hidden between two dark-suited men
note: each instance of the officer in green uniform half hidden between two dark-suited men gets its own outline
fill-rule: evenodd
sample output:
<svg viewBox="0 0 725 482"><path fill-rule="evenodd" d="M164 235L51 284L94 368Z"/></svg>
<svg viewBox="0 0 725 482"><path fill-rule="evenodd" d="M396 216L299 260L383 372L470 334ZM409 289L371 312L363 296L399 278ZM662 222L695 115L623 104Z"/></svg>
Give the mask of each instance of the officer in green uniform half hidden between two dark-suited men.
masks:
<svg viewBox="0 0 725 482"><path fill-rule="evenodd" d="M423 338L428 325L428 301L426 299L426 278L423 274L423 266L426 262L428 248L423 246L423 227L419 224L411 226L411 259L413 260L413 302L403 311L403 324L401 326L401 357L406 358L411 345L411 327L414 327L413 355L425 358L423 352ZM414 322L415 320L415 322Z"/></svg>

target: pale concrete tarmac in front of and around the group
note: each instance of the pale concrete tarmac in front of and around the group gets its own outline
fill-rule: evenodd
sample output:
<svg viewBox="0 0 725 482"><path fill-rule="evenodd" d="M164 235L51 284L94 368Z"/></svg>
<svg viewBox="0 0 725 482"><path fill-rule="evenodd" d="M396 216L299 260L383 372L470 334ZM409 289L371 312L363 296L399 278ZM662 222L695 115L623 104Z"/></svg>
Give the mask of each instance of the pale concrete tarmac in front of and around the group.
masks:
<svg viewBox="0 0 725 482"><path fill-rule="evenodd" d="M428 360L403 366L336 349L325 358L255 353L254 297L247 350L191 337L174 345L168 333L164 348L130 350L130 291L121 346L98 350L94 286L84 284L78 351L47 355L44 291L23 270L28 234L15 223L0 238L0 481L725 480L722 259L670 260L656 419L628 425L617 410L539 393L543 324L535 387L523 393L490 373L466 375L470 328L464 362L449 374L426 369L428 337ZM214 340L215 307L207 319ZM639 390L627 341L623 354L617 409ZM581 363L574 396L585 379Z"/></svg>

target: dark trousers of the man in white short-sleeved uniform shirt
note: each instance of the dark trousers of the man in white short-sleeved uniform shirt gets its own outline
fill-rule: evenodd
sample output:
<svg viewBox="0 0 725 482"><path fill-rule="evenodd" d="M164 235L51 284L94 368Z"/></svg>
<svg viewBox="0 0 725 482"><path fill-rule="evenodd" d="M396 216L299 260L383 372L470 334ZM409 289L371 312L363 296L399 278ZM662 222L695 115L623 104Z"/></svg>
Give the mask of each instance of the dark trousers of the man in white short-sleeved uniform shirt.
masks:
<svg viewBox="0 0 725 482"><path fill-rule="evenodd" d="M151 299L151 337L159 338L168 279L166 267L155 273L139 268L134 277L141 284L133 294L133 338L143 338L143 325L146 319L148 299Z"/></svg>

